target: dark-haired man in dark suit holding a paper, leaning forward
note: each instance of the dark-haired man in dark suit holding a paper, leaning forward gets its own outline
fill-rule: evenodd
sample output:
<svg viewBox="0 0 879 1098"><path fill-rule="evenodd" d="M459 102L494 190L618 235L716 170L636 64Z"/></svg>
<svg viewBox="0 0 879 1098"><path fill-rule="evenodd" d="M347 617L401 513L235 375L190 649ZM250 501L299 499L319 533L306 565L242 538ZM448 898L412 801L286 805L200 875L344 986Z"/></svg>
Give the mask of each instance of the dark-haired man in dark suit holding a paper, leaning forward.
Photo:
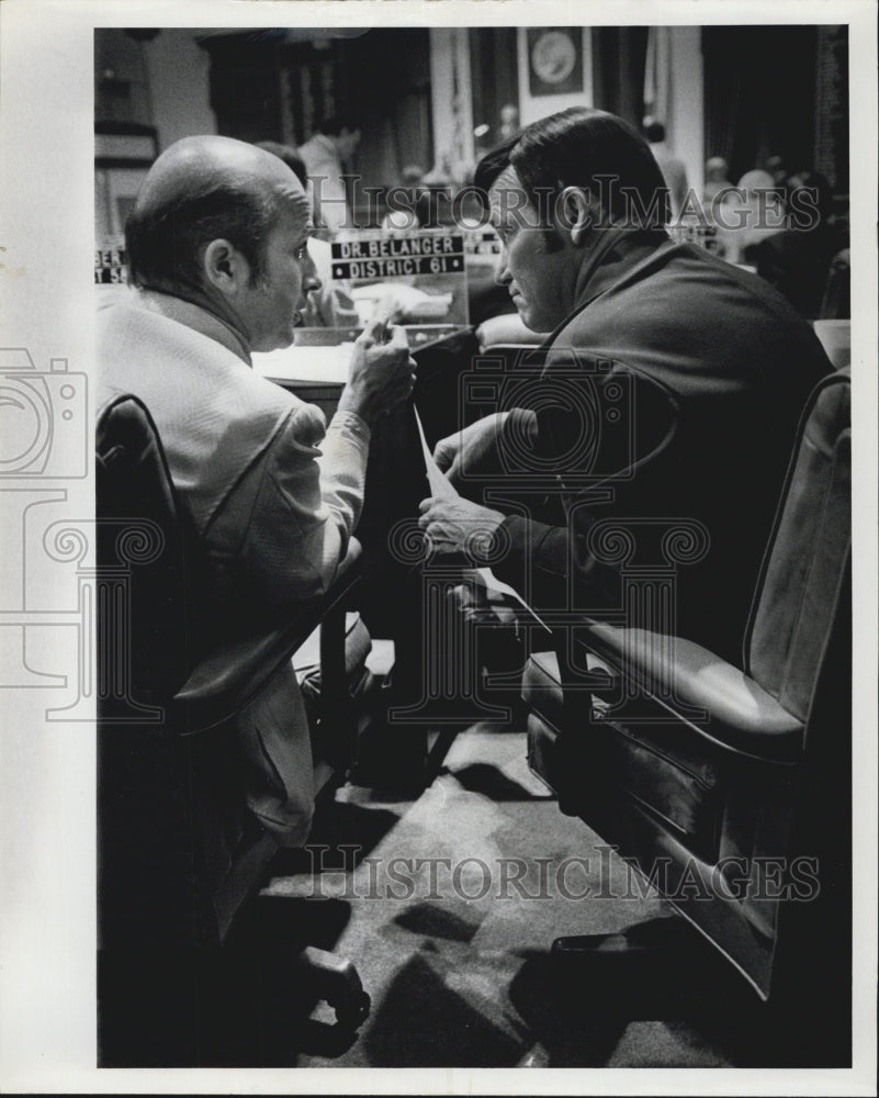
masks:
<svg viewBox="0 0 879 1098"><path fill-rule="evenodd" d="M504 246L497 279L549 333L545 365L508 372L498 412L436 448L462 492L494 474L493 498L518 504L425 501L430 541L493 535L496 574L538 608L619 608L627 562L670 568L675 619L654 624L737 660L800 411L830 369L821 345L762 280L668 238L660 168L615 115L533 123L476 183ZM616 563L602 519L634 539ZM690 559L664 556L677 519L698 524Z"/></svg>

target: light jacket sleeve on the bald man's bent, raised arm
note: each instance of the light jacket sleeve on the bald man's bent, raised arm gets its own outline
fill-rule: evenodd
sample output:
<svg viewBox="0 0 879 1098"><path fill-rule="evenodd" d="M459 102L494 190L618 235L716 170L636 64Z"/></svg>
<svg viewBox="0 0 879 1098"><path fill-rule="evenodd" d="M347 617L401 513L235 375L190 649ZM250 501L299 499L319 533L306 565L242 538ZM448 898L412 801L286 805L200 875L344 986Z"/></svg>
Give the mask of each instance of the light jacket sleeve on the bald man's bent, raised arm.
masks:
<svg viewBox="0 0 879 1098"><path fill-rule="evenodd" d="M351 413L326 428L314 405L291 412L267 456L243 547L264 596L294 604L331 584L363 506L369 440Z"/></svg>

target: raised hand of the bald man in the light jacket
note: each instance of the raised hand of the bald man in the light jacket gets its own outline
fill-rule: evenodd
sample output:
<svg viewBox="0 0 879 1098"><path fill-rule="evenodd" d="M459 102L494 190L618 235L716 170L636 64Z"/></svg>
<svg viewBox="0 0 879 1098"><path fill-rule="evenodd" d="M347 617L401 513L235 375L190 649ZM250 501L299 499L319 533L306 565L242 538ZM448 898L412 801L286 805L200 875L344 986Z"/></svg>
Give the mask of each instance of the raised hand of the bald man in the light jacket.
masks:
<svg viewBox="0 0 879 1098"><path fill-rule="evenodd" d="M353 412L372 426L382 412L412 395L415 368L406 332L388 327L385 317L376 316L354 341L339 411Z"/></svg>

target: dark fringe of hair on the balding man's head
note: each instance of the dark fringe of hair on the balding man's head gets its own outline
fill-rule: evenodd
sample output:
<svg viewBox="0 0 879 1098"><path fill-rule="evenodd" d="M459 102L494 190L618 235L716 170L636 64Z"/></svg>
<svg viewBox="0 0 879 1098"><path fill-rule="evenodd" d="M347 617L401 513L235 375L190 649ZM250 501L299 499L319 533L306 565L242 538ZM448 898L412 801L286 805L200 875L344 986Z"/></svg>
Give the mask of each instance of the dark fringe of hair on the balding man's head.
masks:
<svg viewBox="0 0 879 1098"><path fill-rule="evenodd" d="M125 225L128 281L145 289L202 289L202 250L212 240L234 245L250 265L251 284L262 274L264 246L278 216L269 192L221 183L138 210Z"/></svg>

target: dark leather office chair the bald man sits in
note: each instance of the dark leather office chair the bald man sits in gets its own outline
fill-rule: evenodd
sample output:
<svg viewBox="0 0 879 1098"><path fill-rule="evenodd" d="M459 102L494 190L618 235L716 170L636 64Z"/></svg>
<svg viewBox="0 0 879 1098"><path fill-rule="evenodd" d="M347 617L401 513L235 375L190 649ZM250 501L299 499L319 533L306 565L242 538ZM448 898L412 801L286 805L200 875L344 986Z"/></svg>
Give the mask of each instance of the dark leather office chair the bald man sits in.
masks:
<svg viewBox="0 0 879 1098"><path fill-rule="evenodd" d="M199 627L198 544L135 397L101 408L95 468L102 1056L194 1063L201 1039L183 1004L277 850L245 804L230 718L302 650L316 788L352 762L357 696L370 680L369 634L346 614L359 546L295 620L217 649ZM369 997L350 963L311 950L293 967L340 1026L365 1017Z"/></svg>

